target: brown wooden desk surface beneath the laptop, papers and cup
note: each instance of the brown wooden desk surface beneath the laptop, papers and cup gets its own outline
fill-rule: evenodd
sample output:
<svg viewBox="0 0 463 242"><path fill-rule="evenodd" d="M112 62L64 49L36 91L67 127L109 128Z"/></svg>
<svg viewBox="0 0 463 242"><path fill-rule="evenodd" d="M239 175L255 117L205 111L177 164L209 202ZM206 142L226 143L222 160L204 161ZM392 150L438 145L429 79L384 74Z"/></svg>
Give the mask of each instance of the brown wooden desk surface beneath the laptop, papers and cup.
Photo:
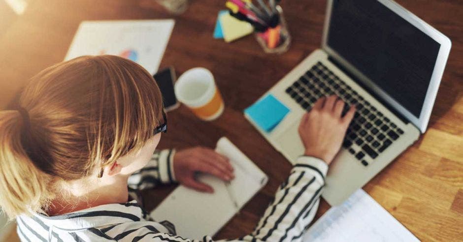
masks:
<svg viewBox="0 0 463 242"><path fill-rule="evenodd" d="M423 241L463 240L463 1L397 0L453 42L428 131L364 189ZM29 0L23 16L1 15L0 107L27 80L64 59L82 20L170 18L154 0ZM227 44L212 38L225 1L191 0L176 24L161 67L177 75L203 66L212 71L226 102L216 121L196 119L184 106L169 114L160 148L213 147L228 136L268 174L270 181L243 212L217 235L236 238L252 231L291 165L247 122L242 111L321 43L324 0L283 1L293 41L281 56L262 52L252 36ZM4 5L4 4L3 4ZM4 7L0 4L0 8ZM3 10L0 9L0 13ZM4 22L3 22L4 21ZM152 209L173 187L147 191ZM318 216L329 209L322 201Z"/></svg>

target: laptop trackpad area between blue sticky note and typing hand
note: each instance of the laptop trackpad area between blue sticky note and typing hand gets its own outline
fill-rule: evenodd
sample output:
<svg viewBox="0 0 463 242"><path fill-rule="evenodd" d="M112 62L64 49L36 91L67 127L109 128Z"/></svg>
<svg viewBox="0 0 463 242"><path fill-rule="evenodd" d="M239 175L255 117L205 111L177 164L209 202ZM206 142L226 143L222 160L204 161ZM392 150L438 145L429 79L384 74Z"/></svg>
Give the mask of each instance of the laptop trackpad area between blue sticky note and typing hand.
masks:
<svg viewBox="0 0 463 242"><path fill-rule="evenodd" d="M299 156L304 154L304 146L299 137L298 127L299 119L293 122L286 131L282 132L276 138L276 143L278 143L281 152L293 164Z"/></svg>

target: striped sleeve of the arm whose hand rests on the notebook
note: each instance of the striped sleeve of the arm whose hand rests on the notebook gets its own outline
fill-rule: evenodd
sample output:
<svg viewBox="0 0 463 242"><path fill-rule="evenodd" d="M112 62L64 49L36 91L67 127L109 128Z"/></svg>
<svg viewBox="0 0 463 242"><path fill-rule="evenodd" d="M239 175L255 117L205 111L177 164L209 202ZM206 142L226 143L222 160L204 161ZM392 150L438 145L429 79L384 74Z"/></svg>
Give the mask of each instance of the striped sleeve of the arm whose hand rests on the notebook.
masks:
<svg viewBox="0 0 463 242"><path fill-rule="evenodd" d="M159 183L176 182L173 172L173 157L175 150L155 151L148 164L129 177L129 187L132 189L153 188Z"/></svg>

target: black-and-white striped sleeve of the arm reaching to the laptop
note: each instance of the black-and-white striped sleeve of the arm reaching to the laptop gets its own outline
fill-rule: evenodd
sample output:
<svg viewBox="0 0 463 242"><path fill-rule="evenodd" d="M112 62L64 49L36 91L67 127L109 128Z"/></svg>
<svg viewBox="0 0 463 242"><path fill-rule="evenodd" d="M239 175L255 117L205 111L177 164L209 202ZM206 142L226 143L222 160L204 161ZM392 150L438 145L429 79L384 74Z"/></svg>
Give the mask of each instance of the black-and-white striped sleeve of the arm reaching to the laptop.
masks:
<svg viewBox="0 0 463 242"><path fill-rule="evenodd" d="M301 156L256 229L246 241L297 241L318 209L328 165L321 159Z"/></svg>

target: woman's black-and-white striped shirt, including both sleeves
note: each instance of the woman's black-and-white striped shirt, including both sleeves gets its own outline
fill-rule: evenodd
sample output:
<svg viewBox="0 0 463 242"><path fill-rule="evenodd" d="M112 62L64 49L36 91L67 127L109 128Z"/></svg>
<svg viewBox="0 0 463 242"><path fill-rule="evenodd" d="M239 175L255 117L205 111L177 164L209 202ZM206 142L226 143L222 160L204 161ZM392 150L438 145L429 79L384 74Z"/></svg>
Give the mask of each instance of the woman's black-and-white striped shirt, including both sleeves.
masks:
<svg viewBox="0 0 463 242"><path fill-rule="evenodd" d="M132 197L137 190L176 181L172 169L173 152L156 151L147 166L129 178ZM320 159L299 157L254 231L232 240L299 241L315 216L327 170L327 164ZM20 215L16 221L23 242L196 241L177 235L170 222L151 218L136 199L55 216L44 213ZM200 241L211 242L212 238L204 236Z"/></svg>

